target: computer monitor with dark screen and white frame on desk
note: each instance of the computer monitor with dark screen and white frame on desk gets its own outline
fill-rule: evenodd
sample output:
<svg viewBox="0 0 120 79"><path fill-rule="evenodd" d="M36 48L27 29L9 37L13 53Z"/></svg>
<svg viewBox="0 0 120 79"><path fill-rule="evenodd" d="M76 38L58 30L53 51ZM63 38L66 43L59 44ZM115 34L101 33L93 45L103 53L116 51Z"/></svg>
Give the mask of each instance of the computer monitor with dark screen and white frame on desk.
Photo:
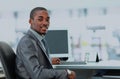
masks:
<svg viewBox="0 0 120 79"><path fill-rule="evenodd" d="M59 57L62 60L69 58L70 43L67 29L48 30L45 39L47 40L51 57Z"/></svg>

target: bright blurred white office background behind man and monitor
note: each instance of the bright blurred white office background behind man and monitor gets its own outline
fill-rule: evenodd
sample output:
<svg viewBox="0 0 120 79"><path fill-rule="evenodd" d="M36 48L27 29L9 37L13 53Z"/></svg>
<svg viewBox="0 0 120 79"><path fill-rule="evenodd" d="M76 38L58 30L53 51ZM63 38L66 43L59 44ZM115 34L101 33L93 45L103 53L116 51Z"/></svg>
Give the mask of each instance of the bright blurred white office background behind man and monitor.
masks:
<svg viewBox="0 0 120 79"><path fill-rule="evenodd" d="M51 29L69 28L75 61L84 59L81 53L93 50L102 60L120 59L119 0L1 0L0 5L0 41L13 49L29 28L30 10L43 6L50 12Z"/></svg>

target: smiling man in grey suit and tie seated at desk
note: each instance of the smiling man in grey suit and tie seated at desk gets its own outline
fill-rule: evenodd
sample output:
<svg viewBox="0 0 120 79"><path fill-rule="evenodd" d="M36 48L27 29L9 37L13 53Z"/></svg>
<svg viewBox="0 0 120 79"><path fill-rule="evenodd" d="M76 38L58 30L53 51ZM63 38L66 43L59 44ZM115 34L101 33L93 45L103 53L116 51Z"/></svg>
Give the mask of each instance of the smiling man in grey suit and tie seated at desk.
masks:
<svg viewBox="0 0 120 79"><path fill-rule="evenodd" d="M55 70L52 64L60 59L50 58L44 39L49 28L47 9L36 7L30 13L30 29L20 40L16 50L16 73L18 79L75 79L75 72ZM51 61L52 60L52 61Z"/></svg>

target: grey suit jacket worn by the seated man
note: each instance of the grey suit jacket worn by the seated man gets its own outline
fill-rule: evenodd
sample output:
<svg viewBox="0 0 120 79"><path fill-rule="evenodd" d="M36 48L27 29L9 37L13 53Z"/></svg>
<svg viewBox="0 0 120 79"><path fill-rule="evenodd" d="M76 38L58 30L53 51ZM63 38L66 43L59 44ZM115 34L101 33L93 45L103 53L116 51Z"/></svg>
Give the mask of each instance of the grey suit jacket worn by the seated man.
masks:
<svg viewBox="0 0 120 79"><path fill-rule="evenodd" d="M48 52L31 31L20 40L16 56L18 79L68 79L65 70L53 69Z"/></svg>

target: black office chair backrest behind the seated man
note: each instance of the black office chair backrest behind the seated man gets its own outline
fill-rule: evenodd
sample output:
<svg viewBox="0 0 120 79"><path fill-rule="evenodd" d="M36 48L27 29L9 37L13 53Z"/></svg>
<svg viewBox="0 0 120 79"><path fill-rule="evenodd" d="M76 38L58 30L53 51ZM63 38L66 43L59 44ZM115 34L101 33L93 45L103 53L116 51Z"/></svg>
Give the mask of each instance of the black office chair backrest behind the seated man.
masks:
<svg viewBox="0 0 120 79"><path fill-rule="evenodd" d="M5 42L0 42L0 60L3 65L6 79L15 79L15 53Z"/></svg>

